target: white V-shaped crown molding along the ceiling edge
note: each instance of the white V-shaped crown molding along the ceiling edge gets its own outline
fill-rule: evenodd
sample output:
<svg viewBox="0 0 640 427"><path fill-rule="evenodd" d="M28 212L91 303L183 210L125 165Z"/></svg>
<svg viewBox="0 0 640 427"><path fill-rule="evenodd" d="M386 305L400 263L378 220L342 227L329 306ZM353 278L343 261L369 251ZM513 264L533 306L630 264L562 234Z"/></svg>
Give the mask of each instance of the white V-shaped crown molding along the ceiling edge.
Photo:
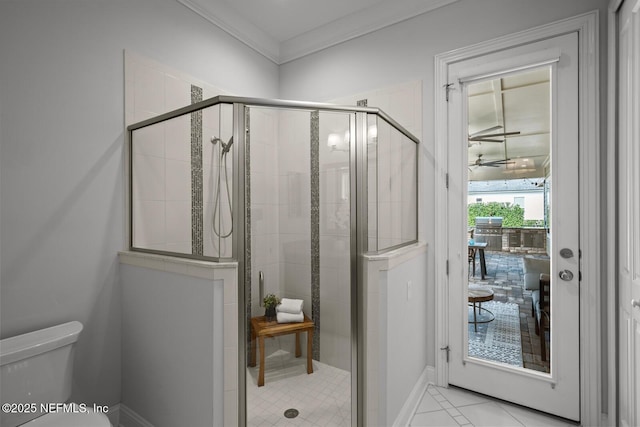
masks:
<svg viewBox="0 0 640 427"><path fill-rule="evenodd" d="M207 21L278 65L318 52L458 0L386 1L346 15L282 43L244 19L224 2L215 10L197 0L177 0Z"/></svg>

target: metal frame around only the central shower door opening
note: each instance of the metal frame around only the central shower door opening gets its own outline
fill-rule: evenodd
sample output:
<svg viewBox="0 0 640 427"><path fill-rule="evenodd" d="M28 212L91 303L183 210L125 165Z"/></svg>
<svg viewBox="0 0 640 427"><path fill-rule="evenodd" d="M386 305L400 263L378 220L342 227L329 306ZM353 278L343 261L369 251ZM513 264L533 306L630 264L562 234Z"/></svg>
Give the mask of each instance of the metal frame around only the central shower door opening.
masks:
<svg viewBox="0 0 640 427"><path fill-rule="evenodd" d="M367 113L345 108L327 108L326 105L304 103L274 102L269 104L266 100L249 100L254 102L236 102L233 104L234 141L237 150L234 150L233 173L233 205L234 221L241 226L236 227L233 241L233 257L238 262L238 422L240 426L247 425L247 398L246 398L246 369L247 366L247 334L250 325L247 322L247 314L250 307L246 301L246 280L251 275L250 254L246 251L246 239L251 235L251 218L249 207L251 204L250 190L247 186L247 175L250 173L249 154L247 146L247 126L249 108L252 106L293 108L306 110L337 110L354 113L350 117L349 130L351 138L349 147L349 177L350 177L350 272L351 272L351 424L363 426L363 391L364 391L364 334L359 333L358 326L363 324L363 254L366 250L366 215L367 215ZM258 102L256 102L258 101ZM372 109L373 110L373 109ZM357 126L359 124L359 126ZM354 200L354 195L355 199ZM363 220L358 220L363 218Z"/></svg>

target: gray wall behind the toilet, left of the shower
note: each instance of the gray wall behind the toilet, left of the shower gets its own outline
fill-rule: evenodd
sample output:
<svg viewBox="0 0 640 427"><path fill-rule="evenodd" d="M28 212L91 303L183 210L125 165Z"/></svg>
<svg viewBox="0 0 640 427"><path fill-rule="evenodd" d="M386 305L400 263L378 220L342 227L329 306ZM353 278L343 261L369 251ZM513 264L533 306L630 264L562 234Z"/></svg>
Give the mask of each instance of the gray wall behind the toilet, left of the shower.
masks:
<svg viewBox="0 0 640 427"><path fill-rule="evenodd" d="M85 325L72 399L120 395L123 51L238 95L278 67L175 0L0 1L0 324Z"/></svg>

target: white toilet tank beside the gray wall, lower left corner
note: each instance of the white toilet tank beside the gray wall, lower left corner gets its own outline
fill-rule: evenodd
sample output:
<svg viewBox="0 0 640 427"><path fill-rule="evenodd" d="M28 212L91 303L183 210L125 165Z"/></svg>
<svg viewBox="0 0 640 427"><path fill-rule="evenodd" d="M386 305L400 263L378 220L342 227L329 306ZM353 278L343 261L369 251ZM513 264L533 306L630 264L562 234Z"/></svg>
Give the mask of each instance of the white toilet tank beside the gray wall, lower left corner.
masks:
<svg viewBox="0 0 640 427"><path fill-rule="evenodd" d="M73 321L0 340L0 403L35 404L36 413L0 413L0 425L22 424L42 415L40 404L71 396L74 344L82 323Z"/></svg>

